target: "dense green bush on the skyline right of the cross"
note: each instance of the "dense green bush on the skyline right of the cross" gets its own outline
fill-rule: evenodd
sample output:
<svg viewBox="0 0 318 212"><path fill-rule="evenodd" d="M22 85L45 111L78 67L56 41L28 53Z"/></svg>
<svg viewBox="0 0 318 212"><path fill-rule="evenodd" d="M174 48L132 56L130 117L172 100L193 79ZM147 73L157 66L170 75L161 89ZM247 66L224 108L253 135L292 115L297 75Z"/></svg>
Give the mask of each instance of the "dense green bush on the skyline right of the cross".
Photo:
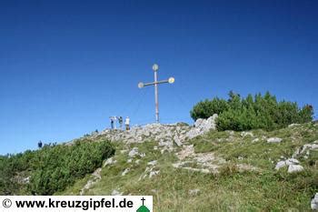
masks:
<svg viewBox="0 0 318 212"><path fill-rule="evenodd" d="M293 123L312 121L313 106L299 108L293 102L278 102L269 92L264 96L257 94L242 98L231 91L228 100L217 97L206 99L196 104L190 114L194 120L218 114L218 130L273 130Z"/></svg>

